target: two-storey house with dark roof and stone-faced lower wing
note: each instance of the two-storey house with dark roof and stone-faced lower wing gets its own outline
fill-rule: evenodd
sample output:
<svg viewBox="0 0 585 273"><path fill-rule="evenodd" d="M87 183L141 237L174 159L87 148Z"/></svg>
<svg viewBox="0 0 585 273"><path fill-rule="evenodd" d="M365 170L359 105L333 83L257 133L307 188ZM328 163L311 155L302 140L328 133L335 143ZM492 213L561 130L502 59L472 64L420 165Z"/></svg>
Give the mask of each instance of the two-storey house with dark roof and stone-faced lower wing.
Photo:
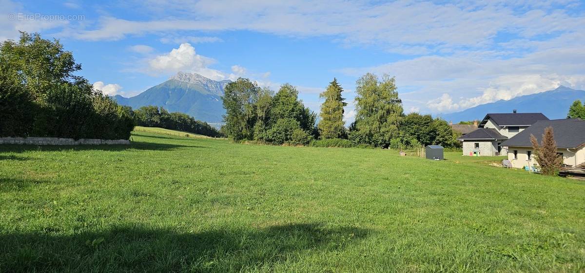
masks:
<svg viewBox="0 0 585 273"><path fill-rule="evenodd" d="M457 139L462 142L463 155L506 155L508 150L501 143L539 120L548 118L542 113L517 113L516 110L512 113L487 114L476 130Z"/></svg>

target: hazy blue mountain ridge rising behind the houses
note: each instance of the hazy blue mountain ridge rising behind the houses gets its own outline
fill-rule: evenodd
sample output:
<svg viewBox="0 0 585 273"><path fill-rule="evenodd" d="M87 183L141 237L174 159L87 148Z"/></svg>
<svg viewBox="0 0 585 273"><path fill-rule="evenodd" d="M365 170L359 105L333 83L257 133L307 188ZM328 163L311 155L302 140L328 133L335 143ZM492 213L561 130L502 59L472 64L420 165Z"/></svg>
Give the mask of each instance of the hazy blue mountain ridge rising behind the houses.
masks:
<svg viewBox="0 0 585 273"><path fill-rule="evenodd" d="M567 117L569 107L575 100L584 101L585 91L559 86L555 90L519 96L510 100L498 100L456 113L439 114L439 117L457 123L481 120L487 113L512 113L512 110L516 109L518 113L543 113L551 120L558 120Z"/></svg>

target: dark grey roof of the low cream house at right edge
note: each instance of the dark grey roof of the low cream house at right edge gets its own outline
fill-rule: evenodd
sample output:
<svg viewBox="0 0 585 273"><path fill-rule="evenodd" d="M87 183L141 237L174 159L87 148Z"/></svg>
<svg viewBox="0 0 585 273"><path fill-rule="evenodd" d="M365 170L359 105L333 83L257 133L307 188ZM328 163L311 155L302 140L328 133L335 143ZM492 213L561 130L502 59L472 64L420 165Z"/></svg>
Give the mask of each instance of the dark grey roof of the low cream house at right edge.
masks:
<svg viewBox="0 0 585 273"><path fill-rule="evenodd" d="M542 134L546 127L552 127L558 148L578 148L585 144L585 121L579 118L565 118L563 120L542 120L532 124L507 141L502 146L508 147L532 147L530 135L542 141Z"/></svg>

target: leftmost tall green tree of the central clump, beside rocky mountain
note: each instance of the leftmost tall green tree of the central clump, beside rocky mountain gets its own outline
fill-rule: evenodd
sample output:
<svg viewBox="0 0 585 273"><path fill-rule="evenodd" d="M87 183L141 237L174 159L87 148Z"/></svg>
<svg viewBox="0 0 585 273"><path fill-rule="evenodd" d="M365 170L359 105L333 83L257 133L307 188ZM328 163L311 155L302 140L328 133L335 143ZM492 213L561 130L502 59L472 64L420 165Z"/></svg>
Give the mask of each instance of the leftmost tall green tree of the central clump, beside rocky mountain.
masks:
<svg viewBox="0 0 585 273"><path fill-rule="evenodd" d="M260 88L249 79L239 78L225 86L222 96L226 114L224 130L236 141L253 139L253 128L257 120L256 102Z"/></svg>

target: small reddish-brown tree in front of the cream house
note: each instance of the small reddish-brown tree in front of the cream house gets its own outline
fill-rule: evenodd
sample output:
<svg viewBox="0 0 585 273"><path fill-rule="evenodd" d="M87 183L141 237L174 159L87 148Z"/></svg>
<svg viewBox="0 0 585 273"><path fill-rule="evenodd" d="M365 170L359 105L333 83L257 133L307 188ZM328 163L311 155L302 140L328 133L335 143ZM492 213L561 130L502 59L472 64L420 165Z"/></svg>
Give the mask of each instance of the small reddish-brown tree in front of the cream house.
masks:
<svg viewBox="0 0 585 273"><path fill-rule="evenodd" d="M553 134L552 127L545 128L545 133L542 134L541 145L538 145L538 140L534 135L530 135L530 142L532 142L534 156L536 162L541 166L542 174L549 176L558 174L563 164L563 158L557 153L555 135Z"/></svg>

